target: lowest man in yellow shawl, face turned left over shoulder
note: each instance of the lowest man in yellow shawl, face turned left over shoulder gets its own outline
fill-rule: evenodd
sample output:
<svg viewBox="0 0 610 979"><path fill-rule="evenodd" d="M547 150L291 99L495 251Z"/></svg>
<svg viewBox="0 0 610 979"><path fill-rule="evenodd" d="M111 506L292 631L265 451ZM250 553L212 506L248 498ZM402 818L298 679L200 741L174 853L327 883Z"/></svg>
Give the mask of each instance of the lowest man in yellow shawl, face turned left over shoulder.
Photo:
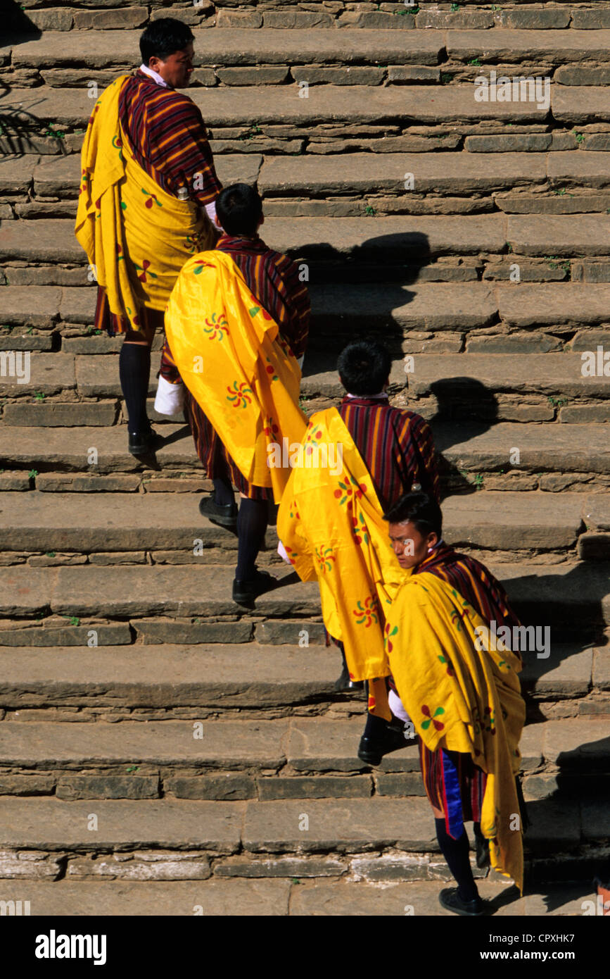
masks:
<svg viewBox="0 0 610 979"><path fill-rule="evenodd" d="M478 865L491 858L523 889L516 777L525 721L517 676L523 627L487 568L443 543L435 500L408 493L385 519L408 576L387 615L386 650L393 685L419 736L439 846L458 885L439 900L457 914L482 914L464 821L474 822ZM400 703L393 709L400 716Z"/></svg>

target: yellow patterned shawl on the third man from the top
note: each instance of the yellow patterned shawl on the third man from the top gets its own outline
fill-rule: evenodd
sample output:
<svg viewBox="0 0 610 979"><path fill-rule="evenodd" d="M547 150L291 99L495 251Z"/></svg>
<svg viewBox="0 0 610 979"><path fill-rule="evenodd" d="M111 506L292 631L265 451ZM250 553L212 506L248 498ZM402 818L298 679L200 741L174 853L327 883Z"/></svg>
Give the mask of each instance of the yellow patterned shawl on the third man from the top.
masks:
<svg viewBox="0 0 610 979"><path fill-rule="evenodd" d="M311 418L293 455L278 536L299 578L318 579L325 625L342 640L352 678L387 676L385 617L405 573L369 470L336 408Z"/></svg>

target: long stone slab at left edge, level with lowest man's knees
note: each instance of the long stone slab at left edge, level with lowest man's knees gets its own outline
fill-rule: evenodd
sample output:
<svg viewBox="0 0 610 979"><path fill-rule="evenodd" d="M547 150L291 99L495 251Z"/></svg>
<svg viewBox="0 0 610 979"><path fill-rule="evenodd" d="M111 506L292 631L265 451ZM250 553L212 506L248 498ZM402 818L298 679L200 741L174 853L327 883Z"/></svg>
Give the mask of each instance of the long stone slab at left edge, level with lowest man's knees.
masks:
<svg viewBox="0 0 610 979"><path fill-rule="evenodd" d="M20 725L21 726L21 725ZM0 799L2 845L35 850L196 848L234 853L241 803L186 800L97 800L67 805L57 799ZM89 814L98 830L88 828Z"/></svg>

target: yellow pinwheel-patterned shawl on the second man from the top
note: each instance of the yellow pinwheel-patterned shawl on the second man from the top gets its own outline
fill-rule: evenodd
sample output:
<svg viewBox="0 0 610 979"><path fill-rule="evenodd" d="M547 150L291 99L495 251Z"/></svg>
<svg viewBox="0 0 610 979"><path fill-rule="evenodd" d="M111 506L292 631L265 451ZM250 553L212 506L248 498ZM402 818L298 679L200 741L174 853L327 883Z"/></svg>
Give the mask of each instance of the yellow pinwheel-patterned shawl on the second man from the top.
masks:
<svg viewBox="0 0 610 979"><path fill-rule="evenodd" d="M282 498L287 451L307 419L301 371L278 324L252 296L233 258L201 252L182 269L165 313L181 377L245 479Z"/></svg>

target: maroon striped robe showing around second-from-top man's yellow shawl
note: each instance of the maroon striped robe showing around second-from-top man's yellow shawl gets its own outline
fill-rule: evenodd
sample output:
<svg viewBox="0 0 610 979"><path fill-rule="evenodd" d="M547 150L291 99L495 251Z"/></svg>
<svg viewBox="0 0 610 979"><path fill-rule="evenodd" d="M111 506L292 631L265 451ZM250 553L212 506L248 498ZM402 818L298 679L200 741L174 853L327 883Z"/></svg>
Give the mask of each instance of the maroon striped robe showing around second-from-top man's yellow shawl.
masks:
<svg viewBox="0 0 610 979"><path fill-rule="evenodd" d="M310 303L306 287L299 282L296 265L290 258L268 248L260 238L223 235L216 248L230 255L238 265L253 296L280 326L283 339L295 356L307 347ZM167 341L161 353L161 377L176 384L180 373ZM196 399L187 390L185 417L191 427L196 452L210 480L229 478L250 499L273 499L271 489L255 487L240 473Z"/></svg>

